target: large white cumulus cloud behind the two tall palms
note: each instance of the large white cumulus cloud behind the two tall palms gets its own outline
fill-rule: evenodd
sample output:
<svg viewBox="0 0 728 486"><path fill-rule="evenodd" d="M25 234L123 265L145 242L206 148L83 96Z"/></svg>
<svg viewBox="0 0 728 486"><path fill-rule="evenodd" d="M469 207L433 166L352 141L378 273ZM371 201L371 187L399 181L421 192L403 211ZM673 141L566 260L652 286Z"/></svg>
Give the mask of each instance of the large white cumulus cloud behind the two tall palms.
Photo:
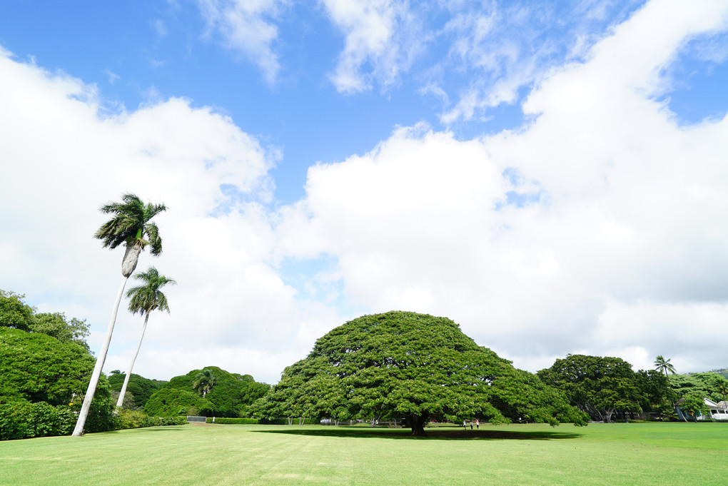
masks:
<svg viewBox="0 0 728 486"><path fill-rule="evenodd" d="M138 373L186 373L191 367L175 365L188 356L202 366L226 356L240 370L237 356L250 365L245 373L277 381L322 322L336 324L336 312L299 301L272 263L264 207L277 150L189 100L110 115L79 79L7 52L0 72L0 288L27 294L41 311L87 318L96 348L122 254L92 235L104 220L98 207L128 191L169 208L156 218L162 257L145 252L138 268L157 266L178 282L167 290L172 314L151 316L145 338L147 350L165 352L141 357ZM141 319L119 313L107 371L124 370L140 327Z"/></svg>

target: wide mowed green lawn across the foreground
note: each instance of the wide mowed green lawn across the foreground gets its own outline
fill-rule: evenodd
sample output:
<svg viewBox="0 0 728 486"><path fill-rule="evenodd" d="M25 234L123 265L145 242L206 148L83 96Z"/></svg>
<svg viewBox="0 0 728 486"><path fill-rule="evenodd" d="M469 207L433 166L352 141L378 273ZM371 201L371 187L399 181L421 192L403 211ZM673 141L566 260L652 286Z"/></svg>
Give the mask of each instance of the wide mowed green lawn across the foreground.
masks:
<svg viewBox="0 0 728 486"><path fill-rule="evenodd" d="M728 423L172 426L0 442L1 485L719 485Z"/></svg>

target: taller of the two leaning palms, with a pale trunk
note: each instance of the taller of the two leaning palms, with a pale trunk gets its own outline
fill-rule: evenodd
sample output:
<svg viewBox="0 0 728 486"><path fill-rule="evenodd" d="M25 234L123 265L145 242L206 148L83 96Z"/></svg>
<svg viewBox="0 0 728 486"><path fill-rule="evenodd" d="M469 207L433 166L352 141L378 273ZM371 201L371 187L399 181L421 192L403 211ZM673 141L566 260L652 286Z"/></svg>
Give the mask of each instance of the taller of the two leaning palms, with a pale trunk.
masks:
<svg viewBox="0 0 728 486"><path fill-rule="evenodd" d="M84 425L91 407L91 401L96 392L96 385L101 376L103 362L106 360L106 352L108 344L111 342L111 333L114 332L114 324L116 323L116 313L119 311L119 302L124 295L124 287L127 284L129 276L136 268L144 247L151 247L152 255L162 253L162 239L159 237L157 225L151 223L151 218L158 215L162 211L166 211L164 204L144 204L135 194L124 194L122 202L111 202L105 204L99 209L104 214L113 215L113 217L103 223L96 234L95 238L103 240L103 247L109 247L112 250L120 244L124 244L124 258L122 260L122 284L119 287L119 293L116 294L114 308L111 310L111 320L108 322L106 330L106 338L96 358L91 375L91 381L84 397L84 403L79 412L79 418L76 421L76 428L72 434L74 437L81 437L84 433Z"/></svg>

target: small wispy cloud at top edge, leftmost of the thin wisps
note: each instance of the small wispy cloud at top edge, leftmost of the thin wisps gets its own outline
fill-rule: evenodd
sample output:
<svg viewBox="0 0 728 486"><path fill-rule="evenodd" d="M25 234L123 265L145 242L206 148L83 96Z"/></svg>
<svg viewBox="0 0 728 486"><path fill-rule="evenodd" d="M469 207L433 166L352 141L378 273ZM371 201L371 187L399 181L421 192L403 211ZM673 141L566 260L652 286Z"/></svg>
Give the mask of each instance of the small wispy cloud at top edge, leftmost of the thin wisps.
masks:
<svg viewBox="0 0 728 486"><path fill-rule="evenodd" d="M202 16L211 31L218 32L223 43L248 57L263 72L269 83L280 71L273 44L278 28L272 19L288 0L198 0Z"/></svg>

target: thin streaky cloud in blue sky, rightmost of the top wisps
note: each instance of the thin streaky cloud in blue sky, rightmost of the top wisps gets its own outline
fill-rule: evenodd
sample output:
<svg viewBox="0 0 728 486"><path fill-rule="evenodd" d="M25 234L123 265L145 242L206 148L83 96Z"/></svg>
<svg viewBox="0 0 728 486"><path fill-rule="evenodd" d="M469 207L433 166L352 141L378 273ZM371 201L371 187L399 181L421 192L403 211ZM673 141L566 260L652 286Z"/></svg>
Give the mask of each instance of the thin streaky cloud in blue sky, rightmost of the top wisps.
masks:
<svg viewBox="0 0 728 486"><path fill-rule="evenodd" d="M581 59L604 37L609 22L621 20L630 2L446 2L451 18L440 33L451 39L450 71L467 73L457 102L440 114L451 126L483 119L488 108L513 104L519 90L538 84L562 63ZM609 11L609 15L607 14ZM517 33L517 34L515 34Z"/></svg>

